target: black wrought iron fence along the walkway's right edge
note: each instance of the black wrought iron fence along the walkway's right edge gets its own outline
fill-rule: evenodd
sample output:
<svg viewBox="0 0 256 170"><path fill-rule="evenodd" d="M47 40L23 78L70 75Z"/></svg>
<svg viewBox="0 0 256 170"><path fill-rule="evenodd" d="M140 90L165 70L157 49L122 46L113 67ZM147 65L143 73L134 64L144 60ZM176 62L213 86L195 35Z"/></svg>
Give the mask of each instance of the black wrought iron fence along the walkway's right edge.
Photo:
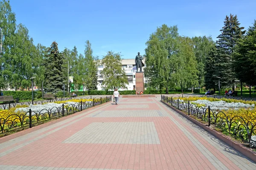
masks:
<svg viewBox="0 0 256 170"><path fill-rule="evenodd" d="M191 103L191 101L185 102L177 96L161 95L161 101L183 111L183 113L196 116L201 121L207 122L208 126L213 125L221 129L222 133L228 133L236 139L241 139L256 147L256 124L246 121L242 116L230 116L223 111L213 111L209 106L204 108Z"/></svg>

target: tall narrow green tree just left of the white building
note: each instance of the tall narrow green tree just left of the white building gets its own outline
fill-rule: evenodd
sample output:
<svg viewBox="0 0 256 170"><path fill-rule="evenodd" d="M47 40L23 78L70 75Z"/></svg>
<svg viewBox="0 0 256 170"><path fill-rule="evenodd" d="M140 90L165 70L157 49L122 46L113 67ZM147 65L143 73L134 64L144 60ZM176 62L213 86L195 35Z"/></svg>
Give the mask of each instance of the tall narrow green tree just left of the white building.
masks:
<svg viewBox="0 0 256 170"><path fill-rule="evenodd" d="M96 90L98 79L97 79L97 59L93 57L93 50L91 48L91 43L89 40L86 41L84 50L84 62L86 68L86 74L84 77L84 83L87 90Z"/></svg>

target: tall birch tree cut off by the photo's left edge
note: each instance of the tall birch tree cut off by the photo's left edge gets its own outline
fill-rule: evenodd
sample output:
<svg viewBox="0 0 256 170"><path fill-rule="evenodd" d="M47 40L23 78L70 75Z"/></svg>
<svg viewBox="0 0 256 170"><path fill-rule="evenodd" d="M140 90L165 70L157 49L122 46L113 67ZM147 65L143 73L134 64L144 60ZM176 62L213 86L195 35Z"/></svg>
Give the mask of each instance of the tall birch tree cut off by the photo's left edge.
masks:
<svg viewBox="0 0 256 170"><path fill-rule="evenodd" d="M9 0L2 0L0 1L0 89L6 88L12 76L6 63L11 56L10 49L14 43L15 29L15 13L12 12Z"/></svg>

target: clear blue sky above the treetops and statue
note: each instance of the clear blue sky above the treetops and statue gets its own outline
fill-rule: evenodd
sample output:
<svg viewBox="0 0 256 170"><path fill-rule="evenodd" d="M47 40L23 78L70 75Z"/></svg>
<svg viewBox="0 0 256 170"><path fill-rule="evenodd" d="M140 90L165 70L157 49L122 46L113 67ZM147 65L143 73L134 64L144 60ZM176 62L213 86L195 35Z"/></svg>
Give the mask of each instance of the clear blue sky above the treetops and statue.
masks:
<svg viewBox="0 0 256 170"><path fill-rule="evenodd" d="M89 40L93 55L121 52L122 58L145 54L145 42L162 24L177 25L179 34L220 34L226 15L237 14L247 29L256 19L256 0L10 0L17 23L29 29L34 43L84 53Z"/></svg>

